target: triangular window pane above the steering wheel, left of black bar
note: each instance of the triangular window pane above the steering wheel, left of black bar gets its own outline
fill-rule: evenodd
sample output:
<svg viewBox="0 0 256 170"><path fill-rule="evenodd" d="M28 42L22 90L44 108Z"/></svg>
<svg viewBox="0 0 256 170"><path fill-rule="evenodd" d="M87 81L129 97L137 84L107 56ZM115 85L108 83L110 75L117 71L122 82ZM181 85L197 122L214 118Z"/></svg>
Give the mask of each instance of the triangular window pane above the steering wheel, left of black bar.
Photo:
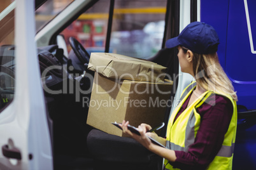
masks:
<svg viewBox="0 0 256 170"><path fill-rule="evenodd" d="M69 37L75 37L89 54L104 52L109 9L110 1L98 1L60 33L65 38L68 52L71 51Z"/></svg>

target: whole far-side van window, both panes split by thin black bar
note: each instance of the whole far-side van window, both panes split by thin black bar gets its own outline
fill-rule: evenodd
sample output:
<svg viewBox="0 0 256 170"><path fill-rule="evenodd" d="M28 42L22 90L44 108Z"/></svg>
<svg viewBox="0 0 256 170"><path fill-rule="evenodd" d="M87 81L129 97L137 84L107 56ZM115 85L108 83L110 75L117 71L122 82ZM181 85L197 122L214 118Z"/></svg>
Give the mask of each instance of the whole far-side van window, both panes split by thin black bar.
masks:
<svg viewBox="0 0 256 170"><path fill-rule="evenodd" d="M110 42L106 39L110 12L109 0L100 0L80 15L60 34L69 46L69 37L75 37L90 53L109 53L150 58L162 47L167 0L115 0Z"/></svg>

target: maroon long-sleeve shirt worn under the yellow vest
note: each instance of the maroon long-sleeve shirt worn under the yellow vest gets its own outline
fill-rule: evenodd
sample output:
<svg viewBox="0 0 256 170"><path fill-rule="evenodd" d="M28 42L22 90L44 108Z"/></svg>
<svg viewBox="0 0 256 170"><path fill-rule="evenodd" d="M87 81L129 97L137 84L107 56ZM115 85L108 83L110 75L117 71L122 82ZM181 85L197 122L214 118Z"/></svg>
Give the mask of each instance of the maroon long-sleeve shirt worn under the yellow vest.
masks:
<svg viewBox="0 0 256 170"><path fill-rule="evenodd" d="M189 99L190 96L183 103L174 121L187 108ZM197 108L197 113L201 115L201 124L195 142L190 145L188 152L175 151L177 159L175 162L170 162L173 167L206 169L222 147L232 118L232 103L228 98L220 95L211 96L210 102L203 103Z"/></svg>

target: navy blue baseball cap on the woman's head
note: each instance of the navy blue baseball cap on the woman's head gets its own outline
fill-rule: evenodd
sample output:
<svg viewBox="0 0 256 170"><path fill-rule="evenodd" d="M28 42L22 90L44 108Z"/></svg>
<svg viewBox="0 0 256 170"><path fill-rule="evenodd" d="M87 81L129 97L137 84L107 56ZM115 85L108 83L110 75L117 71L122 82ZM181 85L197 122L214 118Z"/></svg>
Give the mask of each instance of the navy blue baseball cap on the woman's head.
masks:
<svg viewBox="0 0 256 170"><path fill-rule="evenodd" d="M204 22L192 22L185 27L178 37L168 39L166 48L183 46L198 54L215 53L218 50L218 34Z"/></svg>

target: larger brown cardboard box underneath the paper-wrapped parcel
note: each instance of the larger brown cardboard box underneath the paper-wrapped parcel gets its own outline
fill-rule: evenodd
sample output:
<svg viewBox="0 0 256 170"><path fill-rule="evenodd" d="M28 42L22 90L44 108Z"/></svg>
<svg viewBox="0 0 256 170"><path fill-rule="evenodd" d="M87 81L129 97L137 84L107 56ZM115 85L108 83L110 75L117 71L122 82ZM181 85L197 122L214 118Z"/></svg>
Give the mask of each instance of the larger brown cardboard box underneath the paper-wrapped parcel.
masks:
<svg viewBox="0 0 256 170"><path fill-rule="evenodd" d="M153 127L164 121L173 82L116 81L95 73L87 124L125 136L111 122L125 120L132 126L147 123Z"/></svg>

